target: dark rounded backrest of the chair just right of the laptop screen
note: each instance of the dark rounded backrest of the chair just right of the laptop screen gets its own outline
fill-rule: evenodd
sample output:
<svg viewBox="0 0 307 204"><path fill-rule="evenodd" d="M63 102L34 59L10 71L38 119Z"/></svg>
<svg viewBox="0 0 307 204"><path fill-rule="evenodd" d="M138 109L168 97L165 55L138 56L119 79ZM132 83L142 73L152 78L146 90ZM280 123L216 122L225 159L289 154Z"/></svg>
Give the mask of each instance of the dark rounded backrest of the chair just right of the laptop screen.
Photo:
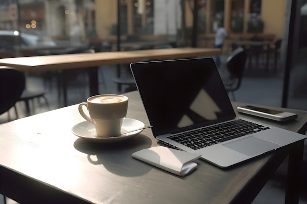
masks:
<svg viewBox="0 0 307 204"><path fill-rule="evenodd" d="M226 67L230 73L230 77L238 80L237 86L234 89L238 89L241 85L246 58L246 50L244 50L242 47L238 47L233 50L233 52L227 58Z"/></svg>

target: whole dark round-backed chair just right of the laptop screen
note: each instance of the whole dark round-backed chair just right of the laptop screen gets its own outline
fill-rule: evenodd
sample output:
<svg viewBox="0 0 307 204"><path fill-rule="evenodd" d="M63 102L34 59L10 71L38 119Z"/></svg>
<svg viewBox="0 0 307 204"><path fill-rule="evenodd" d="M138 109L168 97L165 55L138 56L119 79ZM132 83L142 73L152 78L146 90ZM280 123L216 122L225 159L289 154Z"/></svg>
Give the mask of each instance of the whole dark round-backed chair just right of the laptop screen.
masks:
<svg viewBox="0 0 307 204"><path fill-rule="evenodd" d="M223 79L223 83L227 92L232 93L232 98L235 101L234 91L241 86L244 73L247 53L242 47L236 48L227 58L226 68L229 72L229 77Z"/></svg>

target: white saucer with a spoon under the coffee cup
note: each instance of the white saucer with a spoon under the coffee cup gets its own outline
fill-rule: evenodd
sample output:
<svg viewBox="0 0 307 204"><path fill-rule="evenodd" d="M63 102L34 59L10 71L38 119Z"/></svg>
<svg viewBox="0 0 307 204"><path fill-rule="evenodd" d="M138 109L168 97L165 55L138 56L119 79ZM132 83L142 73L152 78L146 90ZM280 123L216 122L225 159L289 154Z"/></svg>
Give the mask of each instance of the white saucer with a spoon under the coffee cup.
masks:
<svg viewBox="0 0 307 204"><path fill-rule="evenodd" d="M88 121L83 121L78 123L72 128L72 132L85 140L88 141L94 141L94 142L118 142L122 141L128 138L131 138L133 136L136 136L137 134L141 133L143 129L137 130L140 128L144 128L145 124L142 123L141 121L131 119L131 118L125 118L123 125L122 125L122 133L128 132L128 131L133 131L130 133L123 134L121 136L113 136L113 137L100 137L97 136L95 127L92 123Z"/></svg>

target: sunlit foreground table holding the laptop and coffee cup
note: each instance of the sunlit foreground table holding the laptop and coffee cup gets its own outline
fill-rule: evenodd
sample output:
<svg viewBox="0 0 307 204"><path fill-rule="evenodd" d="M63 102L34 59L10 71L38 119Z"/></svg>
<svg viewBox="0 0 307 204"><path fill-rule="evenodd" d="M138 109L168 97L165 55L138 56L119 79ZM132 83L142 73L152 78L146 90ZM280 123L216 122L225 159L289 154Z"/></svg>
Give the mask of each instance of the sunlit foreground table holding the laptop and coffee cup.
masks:
<svg viewBox="0 0 307 204"><path fill-rule="evenodd" d="M125 95L127 117L149 125L138 92ZM298 119L261 122L305 133L307 112L289 111ZM298 203L303 141L228 169L198 159L197 170L180 178L131 157L160 145L150 129L123 143L90 144L71 132L81 121L73 105L0 125L0 193L22 204L247 204L290 153L286 203Z"/></svg>

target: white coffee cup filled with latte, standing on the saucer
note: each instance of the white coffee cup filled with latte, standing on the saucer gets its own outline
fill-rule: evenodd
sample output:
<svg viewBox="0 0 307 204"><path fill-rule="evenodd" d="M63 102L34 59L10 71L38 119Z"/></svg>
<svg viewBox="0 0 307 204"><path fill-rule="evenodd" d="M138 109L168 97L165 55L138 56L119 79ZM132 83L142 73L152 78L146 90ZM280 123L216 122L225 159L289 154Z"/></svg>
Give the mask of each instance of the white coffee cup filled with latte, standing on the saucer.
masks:
<svg viewBox="0 0 307 204"><path fill-rule="evenodd" d="M83 106L90 117L84 113ZM80 103L78 108L82 117L94 124L97 136L119 136L127 115L128 97L117 94L95 95Z"/></svg>

